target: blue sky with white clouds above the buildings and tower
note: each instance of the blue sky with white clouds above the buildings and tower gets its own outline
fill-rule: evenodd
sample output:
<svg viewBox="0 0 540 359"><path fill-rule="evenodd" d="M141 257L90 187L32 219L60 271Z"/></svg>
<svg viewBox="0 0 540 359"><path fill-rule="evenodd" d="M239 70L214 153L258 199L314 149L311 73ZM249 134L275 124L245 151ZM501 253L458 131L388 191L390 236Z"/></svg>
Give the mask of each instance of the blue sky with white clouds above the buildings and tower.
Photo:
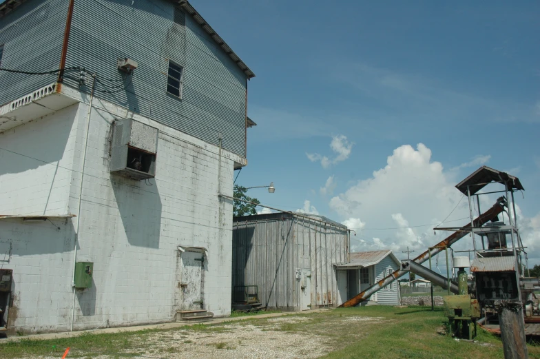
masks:
<svg viewBox="0 0 540 359"><path fill-rule="evenodd" d="M404 258L450 234L433 227L468 223L454 186L488 165L525 187L517 224L540 264L540 2L191 3L256 74L236 184L276 192L249 196Z"/></svg>

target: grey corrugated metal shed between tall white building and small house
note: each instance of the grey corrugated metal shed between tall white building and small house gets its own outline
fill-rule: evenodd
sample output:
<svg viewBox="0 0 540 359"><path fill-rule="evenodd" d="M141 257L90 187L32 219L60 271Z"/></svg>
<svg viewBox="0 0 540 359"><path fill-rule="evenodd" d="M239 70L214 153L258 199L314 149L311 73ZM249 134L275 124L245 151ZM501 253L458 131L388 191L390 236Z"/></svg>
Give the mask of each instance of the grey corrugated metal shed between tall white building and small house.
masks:
<svg viewBox="0 0 540 359"><path fill-rule="evenodd" d="M268 308L335 307L347 296L350 232L323 216L275 213L233 219L233 302L242 293ZM338 278L338 274L339 277Z"/></svg>

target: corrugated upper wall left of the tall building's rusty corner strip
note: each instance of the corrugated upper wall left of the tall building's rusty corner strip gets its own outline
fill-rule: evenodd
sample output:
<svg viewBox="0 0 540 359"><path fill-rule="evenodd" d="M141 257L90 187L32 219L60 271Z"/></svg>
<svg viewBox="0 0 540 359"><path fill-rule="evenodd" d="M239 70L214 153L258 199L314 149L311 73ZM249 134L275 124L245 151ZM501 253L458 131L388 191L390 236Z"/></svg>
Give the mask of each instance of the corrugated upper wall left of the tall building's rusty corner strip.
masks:
<svg viewBox="0 0 540 359"><path fill-rule="evenodd" d="M0 17L2 68L43 72L60 66L68 0L30 0ZM0 71L0 105L56 81L56 75Z"/></svg>

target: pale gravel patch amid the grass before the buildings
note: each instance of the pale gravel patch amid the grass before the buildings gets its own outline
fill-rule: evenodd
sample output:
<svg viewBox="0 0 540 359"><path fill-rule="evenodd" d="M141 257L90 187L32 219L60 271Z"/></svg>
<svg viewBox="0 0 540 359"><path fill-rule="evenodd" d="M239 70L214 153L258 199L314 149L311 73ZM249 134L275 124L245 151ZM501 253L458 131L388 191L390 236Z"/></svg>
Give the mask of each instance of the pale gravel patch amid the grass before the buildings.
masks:
<svg viewBox="0 0 540 359"><path fill-rule="evenodd" d="M366 324L380 323L380 317L337 317L325 325L321 314L245 320L222 325L196 325L169 331L141 334L124 349L111 353L91 352L82 346L70 348L68 358L152 358L152 359L308 359L324 356L342 346L334 334L339 327L353 329L359 336ZM97 356L96 356L97 354ZM28 357L27 357L28 358ZM34 357L35 358L35 357ZM39 356L42 359L59 358Z"/></svg>

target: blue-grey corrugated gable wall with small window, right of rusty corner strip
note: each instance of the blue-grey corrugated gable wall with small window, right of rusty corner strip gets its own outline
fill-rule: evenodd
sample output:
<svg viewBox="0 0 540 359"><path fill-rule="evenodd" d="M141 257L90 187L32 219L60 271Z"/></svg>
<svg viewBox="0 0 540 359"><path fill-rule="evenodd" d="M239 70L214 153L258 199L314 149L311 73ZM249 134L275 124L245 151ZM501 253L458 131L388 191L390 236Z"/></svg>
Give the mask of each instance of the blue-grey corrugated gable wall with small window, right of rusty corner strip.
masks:
<svg viewBox="0 0 540 359"><path fill-rule="evenodd" d="M220 132L225 150L245 156L247 76L188 14L185 26L175 23L174 8L165 0L75 1L66 66L118 81L116 60L134 59L125 91L96 96L214 145ZM182 99L166 92L169 59L184 67ZM66 83L78 87L75 79ZM121 82L105 85L116 91Z"/></svg>

